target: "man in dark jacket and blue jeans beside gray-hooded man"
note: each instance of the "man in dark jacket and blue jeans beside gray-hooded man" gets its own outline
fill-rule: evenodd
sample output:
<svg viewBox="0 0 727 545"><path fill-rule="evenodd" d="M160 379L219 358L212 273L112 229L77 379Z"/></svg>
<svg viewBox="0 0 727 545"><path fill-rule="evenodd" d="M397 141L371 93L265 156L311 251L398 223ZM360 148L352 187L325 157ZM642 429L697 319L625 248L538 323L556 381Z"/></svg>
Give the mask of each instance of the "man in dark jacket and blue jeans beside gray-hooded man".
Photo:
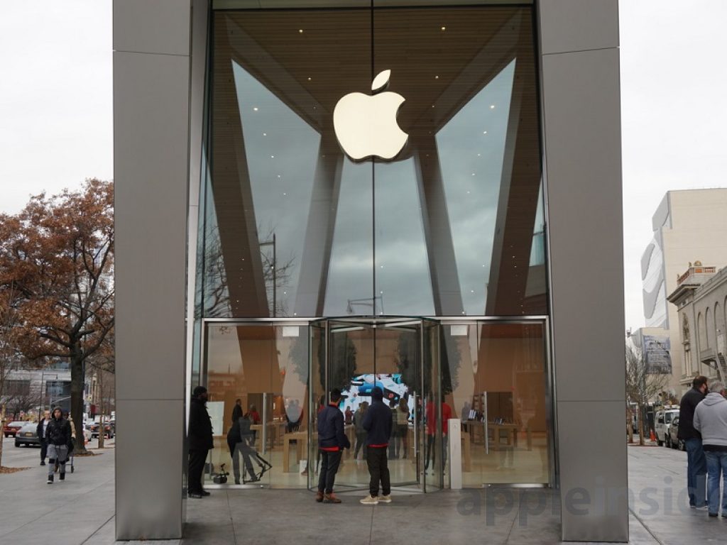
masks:
<svg viewBox="0 0 727 545"><path fill-rule="evenodd" d="M679 429L677 437L686 446L686 485L689 506L707 508L707 459L702 450L702 435L694 429L694 409L707 395L707 377L697 376L692 388L679 403Z"/></svg>

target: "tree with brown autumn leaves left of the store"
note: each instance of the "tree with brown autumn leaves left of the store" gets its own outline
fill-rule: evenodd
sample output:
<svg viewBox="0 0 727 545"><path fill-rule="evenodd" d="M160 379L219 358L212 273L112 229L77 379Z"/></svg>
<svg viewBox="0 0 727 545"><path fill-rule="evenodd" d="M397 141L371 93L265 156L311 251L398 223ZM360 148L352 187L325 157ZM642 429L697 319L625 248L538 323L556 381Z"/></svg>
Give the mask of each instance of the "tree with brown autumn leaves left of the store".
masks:
<svg viewBox="0 0 727 545"><path fill-rule="evenodd" d="M18 346L26 358L71 366L71 414L83 437L84 363L109 350L113 330L113 184L31 198L0 214L0 296L15 289ZM79 450L84 446L78 445Z"/></svg>

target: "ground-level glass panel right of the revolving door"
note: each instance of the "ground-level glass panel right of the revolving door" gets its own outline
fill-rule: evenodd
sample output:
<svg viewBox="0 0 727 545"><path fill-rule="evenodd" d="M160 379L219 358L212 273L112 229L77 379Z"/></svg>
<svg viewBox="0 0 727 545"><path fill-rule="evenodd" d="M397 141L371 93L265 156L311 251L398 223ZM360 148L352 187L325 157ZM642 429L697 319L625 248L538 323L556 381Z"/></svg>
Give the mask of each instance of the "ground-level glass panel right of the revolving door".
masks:
<svg viewBox="0 0 727 545"><path fill-rule="evenodd" d="M462 420L462 483L550 483L543 324L441 328L442 378L451 381L443 391L454 418Z"/></svg>

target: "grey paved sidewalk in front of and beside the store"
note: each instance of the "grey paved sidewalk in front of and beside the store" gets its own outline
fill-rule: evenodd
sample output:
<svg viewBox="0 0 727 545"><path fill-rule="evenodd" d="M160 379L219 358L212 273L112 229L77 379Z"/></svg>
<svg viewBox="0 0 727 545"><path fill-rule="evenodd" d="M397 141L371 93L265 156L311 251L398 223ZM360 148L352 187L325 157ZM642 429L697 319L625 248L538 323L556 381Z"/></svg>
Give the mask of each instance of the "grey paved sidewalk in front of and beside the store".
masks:
<svg viewBox="0 0 727 545"><path fill-rule="evenodd" d="M686 453L663 447L628 449L630 544L725 541L727 519L709 519L706 512L686 506ZM0 544L113 544L113 459L113 448L76 459L76 472L52 486L45 484L41 467L0 475ZM394 492L392 504L374 507L358 504L363 495L343 493L342 504L326 505L316 504L308 491L212 491L209 498L188 501L181 541L132 543L561 543L558 491Z"/></svg>

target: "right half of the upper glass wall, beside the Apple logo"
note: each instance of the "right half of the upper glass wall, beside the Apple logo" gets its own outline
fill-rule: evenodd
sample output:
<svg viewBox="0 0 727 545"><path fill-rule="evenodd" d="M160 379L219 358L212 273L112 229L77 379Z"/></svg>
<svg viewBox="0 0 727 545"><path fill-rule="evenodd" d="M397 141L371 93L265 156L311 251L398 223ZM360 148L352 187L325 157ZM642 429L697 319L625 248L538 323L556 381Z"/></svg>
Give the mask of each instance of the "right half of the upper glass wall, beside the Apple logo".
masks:
<svg viewBox="0 0 727 545"><path fill-rule="evenodd" d="M542 203L531 10L374 1L372 32L372 73L391 70L409 135L393 162L374 162L385 313L545 314L545 267L531 264Z"/></svg>

